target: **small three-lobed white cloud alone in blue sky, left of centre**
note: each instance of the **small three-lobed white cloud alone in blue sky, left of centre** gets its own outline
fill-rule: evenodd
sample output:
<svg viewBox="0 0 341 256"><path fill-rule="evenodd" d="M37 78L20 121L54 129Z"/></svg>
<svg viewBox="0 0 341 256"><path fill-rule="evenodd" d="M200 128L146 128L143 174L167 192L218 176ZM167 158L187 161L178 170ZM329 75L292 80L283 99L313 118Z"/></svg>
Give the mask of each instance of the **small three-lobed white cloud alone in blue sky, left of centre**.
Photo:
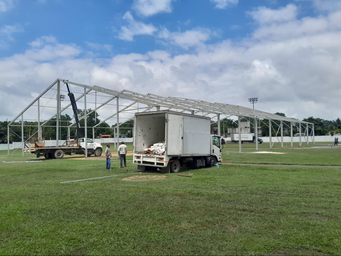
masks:
<svg viewBox="0 0 341 256"><path fill-rule="evenodd" d="M123 19L127 20L129 25L121 27L121 31L118 34L118 38L121 40L132 41L134 35L153 35L157 31L157 28L151 24L136 22L131 12L126 12L123 15Z"/></svg>

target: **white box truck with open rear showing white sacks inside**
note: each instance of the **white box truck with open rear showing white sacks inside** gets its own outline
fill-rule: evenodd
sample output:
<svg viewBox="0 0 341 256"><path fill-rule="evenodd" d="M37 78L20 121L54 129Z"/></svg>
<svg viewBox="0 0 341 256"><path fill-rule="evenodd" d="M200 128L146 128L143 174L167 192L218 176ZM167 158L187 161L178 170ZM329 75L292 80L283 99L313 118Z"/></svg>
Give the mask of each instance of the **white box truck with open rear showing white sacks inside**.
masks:
<svg viewBox="0 0 341 256"><path fill-rule="evenodd" d="M221 162L220 137L210 134L209 117L164 110L134 118L133 164L138 169L169 173ZM149 150L152 145L160 150Z"/></svg>

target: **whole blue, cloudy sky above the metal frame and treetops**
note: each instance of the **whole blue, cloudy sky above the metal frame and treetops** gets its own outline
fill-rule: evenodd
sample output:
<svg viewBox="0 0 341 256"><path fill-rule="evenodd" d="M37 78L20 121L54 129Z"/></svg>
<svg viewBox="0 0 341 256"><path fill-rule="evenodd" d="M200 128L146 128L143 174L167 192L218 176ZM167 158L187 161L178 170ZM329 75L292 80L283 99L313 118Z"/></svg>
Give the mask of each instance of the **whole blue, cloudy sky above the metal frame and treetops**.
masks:
<svg viewBox="0 0 341 256"><path fill-rule="evenodd" d="M341 117L340 0L0 0L0 121L57 78Z"/></svg>

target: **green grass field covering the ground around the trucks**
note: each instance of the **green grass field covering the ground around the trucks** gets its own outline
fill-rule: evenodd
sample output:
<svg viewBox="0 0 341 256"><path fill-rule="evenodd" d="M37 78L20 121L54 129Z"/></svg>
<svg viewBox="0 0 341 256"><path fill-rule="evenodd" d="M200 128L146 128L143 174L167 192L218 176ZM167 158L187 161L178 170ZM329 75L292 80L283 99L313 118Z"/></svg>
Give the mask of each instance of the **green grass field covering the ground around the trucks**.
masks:
<svg viewBox="0 0 341 256"><path fill-rule="evenodd" d="M182 170L192 177L136 172L132 156L107 171L104 158L0 151L0 254L340 255L341 148L252 146L225 147L219 169Z"/></svg>

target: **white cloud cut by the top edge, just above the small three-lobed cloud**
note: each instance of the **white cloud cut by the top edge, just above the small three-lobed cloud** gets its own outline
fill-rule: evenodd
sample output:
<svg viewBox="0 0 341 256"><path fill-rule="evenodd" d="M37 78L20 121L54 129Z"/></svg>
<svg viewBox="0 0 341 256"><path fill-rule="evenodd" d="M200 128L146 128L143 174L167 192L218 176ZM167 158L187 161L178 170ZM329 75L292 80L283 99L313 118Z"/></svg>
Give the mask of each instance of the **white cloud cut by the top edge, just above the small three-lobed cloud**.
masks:
<svg viewBox="0 0 341 256"><path fill-rule="evenodd" d="M133 9L143 16L152 16L160 12L171 13L174 0L134 0Z"/></svg>

